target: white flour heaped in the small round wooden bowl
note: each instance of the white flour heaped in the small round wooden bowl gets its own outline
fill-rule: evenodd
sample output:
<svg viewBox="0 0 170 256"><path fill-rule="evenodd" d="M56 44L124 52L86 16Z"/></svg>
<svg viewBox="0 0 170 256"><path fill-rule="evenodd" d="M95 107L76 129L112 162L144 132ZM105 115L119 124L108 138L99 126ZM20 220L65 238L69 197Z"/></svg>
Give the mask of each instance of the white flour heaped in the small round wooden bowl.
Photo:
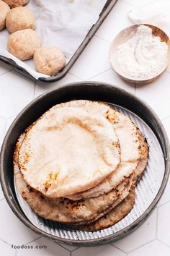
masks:
<svg viewBox="0 0 170 256"><path fill-rule="evenodd" d="M126 43L117 46L117 63L130 77L147 80L164 68L168 46L161 38L152 35L150 27L140 25Z"/></svg>

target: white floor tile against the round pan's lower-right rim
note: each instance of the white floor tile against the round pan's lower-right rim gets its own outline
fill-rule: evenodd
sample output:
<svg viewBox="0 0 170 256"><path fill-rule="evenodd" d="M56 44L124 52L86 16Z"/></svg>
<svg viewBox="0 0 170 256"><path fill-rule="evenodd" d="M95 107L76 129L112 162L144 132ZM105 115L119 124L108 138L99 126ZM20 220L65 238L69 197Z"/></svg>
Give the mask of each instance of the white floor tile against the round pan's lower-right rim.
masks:
<svg viewBox="0 0 170 256"><path fill-rule="evenodd" d="M115 242L116 247L123 249L125 252L130 252L135 248L140 247L146 242L156 239L156 210L153 211L151 216L143 223L140 228L134 231L129 236Z"/></svg>

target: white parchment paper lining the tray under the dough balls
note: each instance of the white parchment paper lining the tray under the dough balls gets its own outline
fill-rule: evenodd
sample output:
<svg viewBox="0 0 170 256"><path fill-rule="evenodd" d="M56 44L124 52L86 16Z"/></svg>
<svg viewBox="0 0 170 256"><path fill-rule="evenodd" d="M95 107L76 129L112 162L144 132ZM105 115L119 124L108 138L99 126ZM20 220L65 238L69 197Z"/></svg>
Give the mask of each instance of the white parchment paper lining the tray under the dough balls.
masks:
<svg viewBox="0 0 170 256"><path fill-rule="evenodd" d="M106 2L107 0L30 0L26 7L35 13L35 31L40 35L42 46L58 46L68 62L99 19ZM35 72L32 59L20 61L6 51L8 36L6 29L0 32L0 55L14 60L36 79L48 77Z"/></svg>

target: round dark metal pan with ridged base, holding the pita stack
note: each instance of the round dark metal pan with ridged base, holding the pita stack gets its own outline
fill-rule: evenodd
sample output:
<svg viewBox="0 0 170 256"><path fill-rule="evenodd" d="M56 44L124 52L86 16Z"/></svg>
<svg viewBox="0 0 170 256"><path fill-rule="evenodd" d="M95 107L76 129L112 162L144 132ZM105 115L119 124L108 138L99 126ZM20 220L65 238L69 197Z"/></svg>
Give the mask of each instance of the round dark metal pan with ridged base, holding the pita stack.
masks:
<svg viewBox="0 0 170 256"><path fill-rule="evenodd" d="M51 106L75 99L109 103L130 116L148 140L148 166L136 188L133 210L114 226L102 231L84 232L66 229L66 226L37 217L14 189L12 157L17 138ZM169 177L169 140L164 127L153 110L135 95L103 82L76 82L59 86L40 95L17 116L6 134L1 148L1 186L14 214L41 236L67 244L91 246L115 241L138 228L155 207L164 192ZM24 205L26 204L26 205Z"/></svg>

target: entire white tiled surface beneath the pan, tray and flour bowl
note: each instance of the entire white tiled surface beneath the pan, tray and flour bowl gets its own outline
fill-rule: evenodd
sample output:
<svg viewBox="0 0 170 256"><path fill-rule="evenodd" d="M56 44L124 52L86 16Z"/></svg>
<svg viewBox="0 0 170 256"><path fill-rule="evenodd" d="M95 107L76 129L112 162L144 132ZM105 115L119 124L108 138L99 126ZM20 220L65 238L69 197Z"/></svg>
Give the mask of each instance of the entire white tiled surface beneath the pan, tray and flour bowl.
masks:
<svg viewBox="0 0 170 256"><path fill-rule="evenodd" d="M166 72L156 82L143 86L138 85L135 90L134 85L121 80L110 68L108 60L109 42L120 30L131 25L127 17L128 11L147 6L154 7L163 1L166 0L119 0L97 31L97 36L91 40L89 46L76 61L71 72L58 82L37 82L35 85L35 82L10 71L12 68L0 61L0 141L4 137L4 131L9 128L15 116L34 97L46 90L57 88L58 85L81 80L109 82L143 98L163 119L164 127L170 138L170 72ZM0 255L15 255L16 250L11 249L9 244L30 243L28 245L46 245L47 249L17 249L15 256L125 256L127 254L128 256L169 256L169 195L170 181L156 208L158 219L156 211L154 211L139 229L125 239L115 242L114 246L107 244L101 247L77 248L66 244L58 245L42 238L38 239L37 234L27 229L14 216L6 200L3 199L4 195L0 188Z"/></svg>

